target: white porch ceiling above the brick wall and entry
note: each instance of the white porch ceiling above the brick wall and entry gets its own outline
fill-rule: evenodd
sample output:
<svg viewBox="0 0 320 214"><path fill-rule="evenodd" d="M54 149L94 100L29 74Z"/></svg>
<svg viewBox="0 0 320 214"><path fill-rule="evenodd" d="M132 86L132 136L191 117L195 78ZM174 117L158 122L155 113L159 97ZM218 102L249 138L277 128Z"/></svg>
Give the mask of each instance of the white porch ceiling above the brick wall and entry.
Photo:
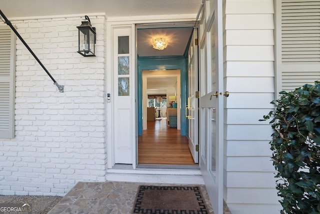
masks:
<svg viewBox="0 0 320 214"><path fill-rule="evenodd" d="M7 18L105 13L106 17L197 14L201 0L0 0Z"/></svg>

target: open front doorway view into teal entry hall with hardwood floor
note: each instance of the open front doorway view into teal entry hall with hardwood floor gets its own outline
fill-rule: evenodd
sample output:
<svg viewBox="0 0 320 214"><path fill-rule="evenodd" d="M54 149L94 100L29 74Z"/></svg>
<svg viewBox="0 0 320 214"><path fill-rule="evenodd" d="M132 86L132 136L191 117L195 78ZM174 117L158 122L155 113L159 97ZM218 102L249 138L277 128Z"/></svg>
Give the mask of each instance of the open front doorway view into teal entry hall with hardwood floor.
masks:
<svg viewBox="0 0 320 214"><path fill-rule="evenodd" d="M137 26L138 165L194 164L188 147L188 121L185 117L188 87L187 50L193 24L167 23ZM152 49L153 37L165 38L167 47L164 50ZM168 86L160 86L161 82L170 82L172 78L176 80L173 84L171 83L173 90L169 90ZM153 88L147 88L148 81ZM151 115L153 113L156 118L153 121L147 120L149 94L160 94L161 96L164 94L166 98L176 97L176 127L170 127L170 122L173 123L173 120L168 121L170 120L166 112L168 103L162 108L149 107ZM152 109L152 107L155 108Z"/></svg>

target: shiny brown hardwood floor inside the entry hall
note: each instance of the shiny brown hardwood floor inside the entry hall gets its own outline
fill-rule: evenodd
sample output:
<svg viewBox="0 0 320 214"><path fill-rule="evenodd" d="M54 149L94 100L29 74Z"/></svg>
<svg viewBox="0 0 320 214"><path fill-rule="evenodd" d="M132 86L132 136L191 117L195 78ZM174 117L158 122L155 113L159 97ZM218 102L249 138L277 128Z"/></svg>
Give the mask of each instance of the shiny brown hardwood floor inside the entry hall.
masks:
<svg viewBox="0 0 320 214"><path fill-rule="evenodd" d="M170 128L166 118L147 121L147 130L138 136L139 164L194 164L188 138Z"/></svg>

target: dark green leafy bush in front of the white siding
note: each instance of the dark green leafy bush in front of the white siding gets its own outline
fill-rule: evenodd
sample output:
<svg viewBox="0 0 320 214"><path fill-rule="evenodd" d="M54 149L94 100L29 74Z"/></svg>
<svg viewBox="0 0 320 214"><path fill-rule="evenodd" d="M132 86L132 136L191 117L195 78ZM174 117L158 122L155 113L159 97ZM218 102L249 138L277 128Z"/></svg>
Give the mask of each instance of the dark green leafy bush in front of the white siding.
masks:
<svg viewBox="0 0 320 214"><path fill-rule="evenodd" d="M270 149L279 178L280 213L320 213L320 82L280 92L264 115L273 129Z"/></svg>

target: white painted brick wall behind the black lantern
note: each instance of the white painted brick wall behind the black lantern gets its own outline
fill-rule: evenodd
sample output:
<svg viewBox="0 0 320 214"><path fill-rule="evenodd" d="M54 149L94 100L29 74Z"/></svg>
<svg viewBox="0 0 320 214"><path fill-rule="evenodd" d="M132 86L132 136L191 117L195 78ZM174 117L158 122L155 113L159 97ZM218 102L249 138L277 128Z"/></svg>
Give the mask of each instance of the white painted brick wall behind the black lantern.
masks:
<svg viewBox="0 0 320 214"><path fill-rule="evenodd" d="M16 42L15 138L0 138L0 194L63 196L78 181L105 180L105 18L96 57L77 51L83 17L12 21L53 78Z"/></svg>

